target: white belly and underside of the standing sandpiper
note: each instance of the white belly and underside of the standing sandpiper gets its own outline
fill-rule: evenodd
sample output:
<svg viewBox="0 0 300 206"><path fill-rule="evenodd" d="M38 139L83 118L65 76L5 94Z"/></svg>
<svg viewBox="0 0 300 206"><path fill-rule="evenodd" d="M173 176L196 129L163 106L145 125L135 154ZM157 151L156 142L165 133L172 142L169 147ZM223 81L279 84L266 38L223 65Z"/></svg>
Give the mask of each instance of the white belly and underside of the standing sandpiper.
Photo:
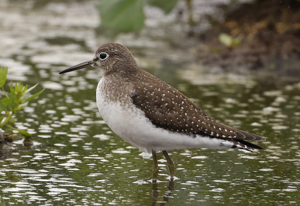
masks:
<svg viewBox="0 0 300 206"><path fill-rule="evenodd" d="M232 142L207 136L182 134L156 127L128 100L127 104L108 101L101 89L101 81L96 91L97 107L107 125L123 140L142 152L191 148L228 149ZM124 107L125 105L125 107Z"/></svg>

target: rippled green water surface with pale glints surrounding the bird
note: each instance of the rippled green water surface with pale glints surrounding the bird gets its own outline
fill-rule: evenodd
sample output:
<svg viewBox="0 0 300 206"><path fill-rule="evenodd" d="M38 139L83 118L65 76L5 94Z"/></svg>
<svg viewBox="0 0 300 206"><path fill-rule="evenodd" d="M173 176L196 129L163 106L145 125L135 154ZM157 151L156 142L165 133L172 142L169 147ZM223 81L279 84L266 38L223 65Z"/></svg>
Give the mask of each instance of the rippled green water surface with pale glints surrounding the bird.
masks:
<svg viewBox="0 0 300 206"><path fill-rule="evenodd" d="M143 69L178 88L216 120L267 139L254 142L267 151L170 151L178 177L174 182L158 153L159 181L152 184L151 156L115 135L98 114L95 89L101 71L58 74L91 59L105 43L93 33L97 22L90 18L97 12L82 13L76 22L70 18L93 4L72 4L66 13L59 10L62 3L36 11L4 0L0 5L6 15L0 25L6 49L0 65L9 66L10 80L46 88L16 116L16 126L33 134L33 146L23 146L20 139L12 143L13 150L1 151L0 205L300 204L299 83L257 81L249 75L241 76L247 81L234 76L209 82L211 76L185 70L176 56L153 63L146 55L155 50L147 47L152 37L137 38L129 47ZM19 15L24 22L16 23ZM122 38L135 42L125 36L120 43Z"/></svg>

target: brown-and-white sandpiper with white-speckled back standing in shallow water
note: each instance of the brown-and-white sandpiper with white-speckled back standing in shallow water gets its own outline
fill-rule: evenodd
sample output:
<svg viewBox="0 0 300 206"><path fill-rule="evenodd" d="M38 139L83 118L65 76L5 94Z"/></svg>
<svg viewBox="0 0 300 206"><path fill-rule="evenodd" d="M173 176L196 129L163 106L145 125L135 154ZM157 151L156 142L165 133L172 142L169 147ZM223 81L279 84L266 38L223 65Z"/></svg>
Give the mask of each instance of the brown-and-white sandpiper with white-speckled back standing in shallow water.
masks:
<svg viewBox="0 0 300 206"><path fill-rule="evenodd" d="M156 152L167 159L170 178L173 161L166 150L184 148L264 148L246 140L265 140L258 135L226 126L209 117L180 91L140 69L125 46L107 43L95 57L59 74L95 67L103 71L96 101L105 123L142 152L152 152L153 179L158 176Z"/></svg>

